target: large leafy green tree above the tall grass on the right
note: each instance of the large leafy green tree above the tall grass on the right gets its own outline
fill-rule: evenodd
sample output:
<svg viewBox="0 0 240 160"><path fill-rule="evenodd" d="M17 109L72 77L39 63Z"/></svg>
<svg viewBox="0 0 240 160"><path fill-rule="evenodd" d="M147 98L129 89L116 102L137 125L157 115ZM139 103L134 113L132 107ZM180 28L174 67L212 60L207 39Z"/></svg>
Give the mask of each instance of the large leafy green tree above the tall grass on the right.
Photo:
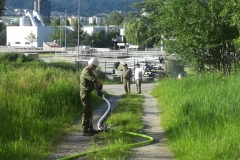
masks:
<svg viewBox="0 0 240 160"><path fill-rule="evenodd" d="M238 3L147 0L134 5L139 12L133 15L138 18L135 23L148 24L147 39L153 40L155 45L163 41L167 53L175 53L199 72L208 66L208 69L230 74L232 65L239 58L234 45L239 37L239 23L233 23L233 19L239 17L234 12L239 9ZM147 14L142 16L143 13ZM136 28L134 33L138 32Z"/></svg>

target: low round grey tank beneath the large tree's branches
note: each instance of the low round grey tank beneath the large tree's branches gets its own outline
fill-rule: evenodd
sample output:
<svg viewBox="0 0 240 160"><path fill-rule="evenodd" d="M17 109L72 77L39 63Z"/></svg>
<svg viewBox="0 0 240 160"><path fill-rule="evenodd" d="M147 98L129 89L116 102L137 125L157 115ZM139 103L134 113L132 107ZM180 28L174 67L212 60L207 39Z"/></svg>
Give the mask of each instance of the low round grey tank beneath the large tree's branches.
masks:
<svg viewBox="0 0 240 160"><path fill-rule="evenodd" d="M184 72L184 66L178 60L164 60L166 73L176 74Z"/></svg>

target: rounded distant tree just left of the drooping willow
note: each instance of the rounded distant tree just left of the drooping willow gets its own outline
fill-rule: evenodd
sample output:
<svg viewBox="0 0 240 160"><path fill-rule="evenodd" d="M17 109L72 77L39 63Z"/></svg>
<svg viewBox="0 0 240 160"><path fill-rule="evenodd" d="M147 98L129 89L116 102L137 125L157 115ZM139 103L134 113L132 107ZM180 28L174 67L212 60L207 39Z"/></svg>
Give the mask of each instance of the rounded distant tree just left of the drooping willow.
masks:
<svg viewBox="0 0 240 160"><path fill-rule="evenodd" d="M124 17L121 13L114 11L111 12L109 17L105 19L105 25L116 25L120 26L123 23Z"/></svg>

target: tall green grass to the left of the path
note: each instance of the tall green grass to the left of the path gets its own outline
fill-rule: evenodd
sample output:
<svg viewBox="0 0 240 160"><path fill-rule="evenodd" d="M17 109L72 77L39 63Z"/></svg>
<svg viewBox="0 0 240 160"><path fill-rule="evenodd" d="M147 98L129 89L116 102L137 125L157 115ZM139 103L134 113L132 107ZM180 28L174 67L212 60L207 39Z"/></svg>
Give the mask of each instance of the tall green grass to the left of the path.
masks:
<svg viewBox="0 0 240 160"><path fill-rule="evenodd" d="M81 112L79 75L0 65L0 159L42 159Z"/></svg>

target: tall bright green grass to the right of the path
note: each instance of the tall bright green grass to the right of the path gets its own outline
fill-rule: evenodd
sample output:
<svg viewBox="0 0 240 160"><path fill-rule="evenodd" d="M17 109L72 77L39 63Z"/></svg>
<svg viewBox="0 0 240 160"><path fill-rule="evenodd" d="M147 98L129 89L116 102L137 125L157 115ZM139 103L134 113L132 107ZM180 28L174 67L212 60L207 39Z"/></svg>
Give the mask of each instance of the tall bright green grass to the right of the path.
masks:
<svg viewBox="0 0 240 160"><path fill-rule="evenodd" d="M161 81L152 94L178 159L240 158L240 74Z"/></svg>

